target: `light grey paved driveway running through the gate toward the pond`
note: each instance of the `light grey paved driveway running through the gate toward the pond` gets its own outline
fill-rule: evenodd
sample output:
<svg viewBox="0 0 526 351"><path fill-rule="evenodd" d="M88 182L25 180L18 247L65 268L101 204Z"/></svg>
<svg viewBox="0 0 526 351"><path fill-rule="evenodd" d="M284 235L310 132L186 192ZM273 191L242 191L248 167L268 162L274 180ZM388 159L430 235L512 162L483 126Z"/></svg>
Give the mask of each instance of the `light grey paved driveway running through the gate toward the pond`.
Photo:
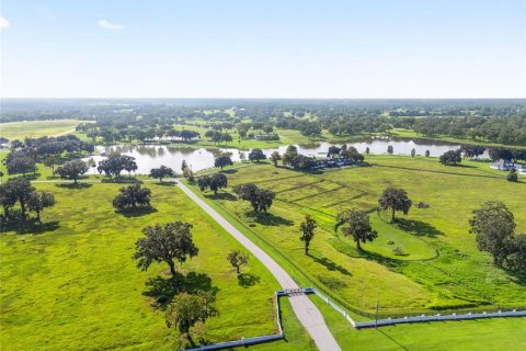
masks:
<svg viewBox="0 0 526 351"><path fill-rule="evenodd" d="M236 238L241 245L243 245L254 257L256 257L261 263L263 263L271 273L276 278L283 288L299 288L294 280L288 275L285 270L276 263L265 251L260 249L259 246L250 241L241 231L236 229L227 219L211 208L207 203L201 200L188 188L176 182L178 186L192 199L197 205L201 206L207 214L220 224L232 237ZM312 340L320 351L340 351L341 348L334 340L334 337L329 331L325 325L323 316L316 305L304 294L289 297L290 305L293 306L296 317L298 317L301 325L309 332Z"/></svg>

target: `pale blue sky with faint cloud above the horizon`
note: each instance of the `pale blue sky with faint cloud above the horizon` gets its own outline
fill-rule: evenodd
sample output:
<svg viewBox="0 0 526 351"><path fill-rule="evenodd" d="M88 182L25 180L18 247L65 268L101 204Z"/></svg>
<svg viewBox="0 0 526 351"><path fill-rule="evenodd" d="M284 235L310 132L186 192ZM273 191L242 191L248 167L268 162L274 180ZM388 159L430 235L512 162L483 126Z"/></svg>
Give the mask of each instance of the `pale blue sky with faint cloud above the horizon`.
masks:
<svg viewBox="0 0 526 351"><path fill-rule="evenodd" d="M524 0L2 0L1 97L526 98Z"/></svg>

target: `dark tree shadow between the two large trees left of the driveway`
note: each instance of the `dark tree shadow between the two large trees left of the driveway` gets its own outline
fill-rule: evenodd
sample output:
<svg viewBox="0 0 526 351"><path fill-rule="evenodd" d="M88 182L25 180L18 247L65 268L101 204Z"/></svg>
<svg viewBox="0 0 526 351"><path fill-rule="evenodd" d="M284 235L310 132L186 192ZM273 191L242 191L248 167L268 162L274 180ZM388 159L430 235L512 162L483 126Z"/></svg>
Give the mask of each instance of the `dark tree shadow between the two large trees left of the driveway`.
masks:
<svg viewBox="0 0 526 351"><path fill-rule="evenodd" d="M182 292L196 294L198 292L211 293L214 296L219 292L217 286L211 285L208 274L190 272L184 275L178 272L174 276L164 278L158 275L150 278L145 283L146 290L142 295L153 297L156 307L164 309L173 297Z"/></svg>

